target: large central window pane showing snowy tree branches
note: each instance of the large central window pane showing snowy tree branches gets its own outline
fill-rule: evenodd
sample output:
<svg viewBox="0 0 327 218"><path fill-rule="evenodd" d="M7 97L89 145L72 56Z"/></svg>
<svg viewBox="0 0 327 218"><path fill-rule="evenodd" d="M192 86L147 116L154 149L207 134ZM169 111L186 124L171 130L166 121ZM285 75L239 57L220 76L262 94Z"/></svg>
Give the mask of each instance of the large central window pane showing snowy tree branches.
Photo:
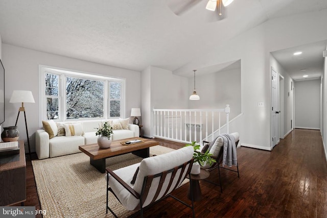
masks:
<svg viewBox="0 0 327 218"><path fill-rule="evenodd" d="M66 79L66 116L97 118L103 116L104 82L77 78Z"/></svg>

